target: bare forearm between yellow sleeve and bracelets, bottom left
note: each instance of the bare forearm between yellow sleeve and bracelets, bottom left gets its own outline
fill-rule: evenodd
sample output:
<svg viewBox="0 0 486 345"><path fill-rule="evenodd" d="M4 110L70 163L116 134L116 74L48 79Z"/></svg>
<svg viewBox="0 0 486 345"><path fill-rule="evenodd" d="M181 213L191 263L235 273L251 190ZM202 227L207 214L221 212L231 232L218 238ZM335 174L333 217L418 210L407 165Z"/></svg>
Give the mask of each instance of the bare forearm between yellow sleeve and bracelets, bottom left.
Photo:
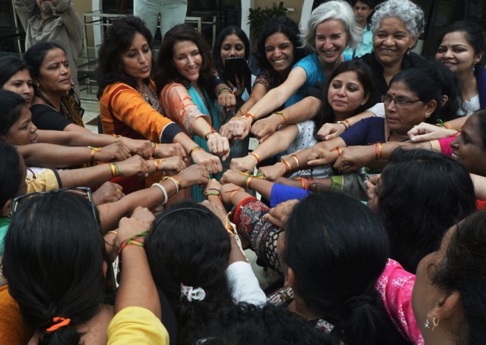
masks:
<svg viewBox="0 0 486 345"><path fill-rule="evenodd" d="M126 246L122 252L121 281L115 299L115 313L125 307L143 307L160 319L160 300L144 248Z"/></svg>

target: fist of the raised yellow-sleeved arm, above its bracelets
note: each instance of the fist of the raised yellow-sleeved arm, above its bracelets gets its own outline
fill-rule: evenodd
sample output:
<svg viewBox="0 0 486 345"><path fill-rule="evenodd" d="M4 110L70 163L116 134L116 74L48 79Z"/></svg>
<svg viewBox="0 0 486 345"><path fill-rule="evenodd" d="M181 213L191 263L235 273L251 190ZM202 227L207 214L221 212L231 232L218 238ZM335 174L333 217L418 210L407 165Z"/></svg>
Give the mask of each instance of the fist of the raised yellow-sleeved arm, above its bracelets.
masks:
<svg viewBox="0 0 486 345"><path fill-rule="evenodd" d="M121 243L131 236L140 232L149 231L155 216L146 207L137 207L130 218L121 218L118 224L115 246L119 248ZM137 241L144 241L144 236L136 238Z"/></svg>

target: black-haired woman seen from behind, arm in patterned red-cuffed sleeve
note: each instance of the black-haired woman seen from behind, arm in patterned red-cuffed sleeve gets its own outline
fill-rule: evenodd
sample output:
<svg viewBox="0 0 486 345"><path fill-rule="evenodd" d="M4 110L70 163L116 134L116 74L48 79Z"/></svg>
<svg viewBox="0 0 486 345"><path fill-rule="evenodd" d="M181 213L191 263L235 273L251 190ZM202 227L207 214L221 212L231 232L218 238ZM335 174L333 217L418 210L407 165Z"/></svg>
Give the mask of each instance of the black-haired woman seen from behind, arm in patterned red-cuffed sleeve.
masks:
<svg viewBox="0 0 486 345"><path fill-rule="evenodd" d="M240 236L285 274L287 296L277 303L289 303L290 311L344 344L404 343L373 289L388 245L383 225L364 205L341 193L310 195L294 207L282 232L264 216L268 208L242 188L225 184L221 197L237 205Z"/></svg>

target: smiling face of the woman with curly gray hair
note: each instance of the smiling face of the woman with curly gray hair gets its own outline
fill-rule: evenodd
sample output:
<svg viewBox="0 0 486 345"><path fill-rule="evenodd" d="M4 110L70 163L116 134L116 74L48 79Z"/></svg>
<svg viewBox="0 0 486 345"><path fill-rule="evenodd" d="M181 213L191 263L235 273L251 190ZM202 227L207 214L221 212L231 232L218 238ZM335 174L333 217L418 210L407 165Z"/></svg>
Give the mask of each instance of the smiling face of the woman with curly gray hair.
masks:
<svg viewBox="0 0 486 345"><path fill-rule="evenodd" d="M373 35L373 49L381 65L400 65L403 56L416 40L399 18L386 17Z"/></svg>

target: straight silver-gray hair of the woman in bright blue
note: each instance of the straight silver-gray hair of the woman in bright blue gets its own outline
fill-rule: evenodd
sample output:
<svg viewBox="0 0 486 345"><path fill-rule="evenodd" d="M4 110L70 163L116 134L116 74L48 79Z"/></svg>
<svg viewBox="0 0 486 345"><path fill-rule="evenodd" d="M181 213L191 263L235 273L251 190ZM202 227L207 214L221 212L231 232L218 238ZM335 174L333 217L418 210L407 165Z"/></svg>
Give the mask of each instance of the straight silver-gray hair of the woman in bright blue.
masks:
<svg viewBox="0 0 486 345"><path fill-rule="evenodd" d="M303 27L300 35L303 47L310 51L315 51L315 31L317 25L326 20L340 20L344 26L347 35L347 45L355 47L358 42L362 41L362 29L354 19L353 8L346 1L333 0L322 3L315 8L310 14L307 26Z"/></svg>

